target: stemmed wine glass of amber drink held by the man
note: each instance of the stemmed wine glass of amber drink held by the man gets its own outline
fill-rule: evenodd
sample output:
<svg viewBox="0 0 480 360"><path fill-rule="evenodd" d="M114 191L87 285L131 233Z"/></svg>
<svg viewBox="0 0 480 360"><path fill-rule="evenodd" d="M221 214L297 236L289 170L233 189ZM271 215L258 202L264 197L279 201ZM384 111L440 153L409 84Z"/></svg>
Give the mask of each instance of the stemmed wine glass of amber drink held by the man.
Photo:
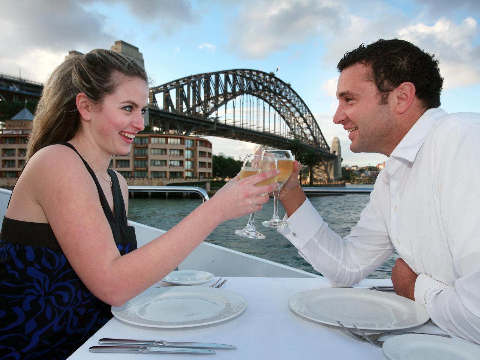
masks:
<svg viewBox="0 0 480 360"><path fill-rule="evenodd" d="M277 167L280 170L278 175L278 188L273 192L273 217L262 223L267 228L284 228L290 226L288 221L283 221L278 217L278 194L283 184L285 184L293 171L293 155L290 150L264 150L263 156L270 156L277 160Z"/></svg>

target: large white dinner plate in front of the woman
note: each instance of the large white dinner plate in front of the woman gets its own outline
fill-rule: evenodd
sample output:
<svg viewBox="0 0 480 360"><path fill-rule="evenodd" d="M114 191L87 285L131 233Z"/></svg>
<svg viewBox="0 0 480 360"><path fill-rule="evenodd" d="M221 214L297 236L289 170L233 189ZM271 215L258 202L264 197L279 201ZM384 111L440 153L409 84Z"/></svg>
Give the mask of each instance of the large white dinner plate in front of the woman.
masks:
<svg viewBox="0 0 480 360"><path fill-rule="evenodd" d="M210 287L149 288L113 315L129 324L149 327L192 327L230 319L247 307L233 291Z"/></svg>

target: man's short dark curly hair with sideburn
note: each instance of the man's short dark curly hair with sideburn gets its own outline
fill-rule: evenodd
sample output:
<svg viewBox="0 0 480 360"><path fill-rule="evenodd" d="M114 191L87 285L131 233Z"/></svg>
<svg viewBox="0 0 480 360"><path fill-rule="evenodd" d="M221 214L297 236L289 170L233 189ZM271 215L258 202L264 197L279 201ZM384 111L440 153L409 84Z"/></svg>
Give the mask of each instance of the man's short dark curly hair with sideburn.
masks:
<svg viewBox="0 0 480 360"><path fill-rule="evenodd" d="M371 78L381 96L380 104L386 104L388 93L408 81L415 85L416 95L424 108L438 108L444 79L440 76L438 60L412 43L400 40L380 39L370 45L347 52L338 62L341 72L356 63L372 68Z"/></svg>

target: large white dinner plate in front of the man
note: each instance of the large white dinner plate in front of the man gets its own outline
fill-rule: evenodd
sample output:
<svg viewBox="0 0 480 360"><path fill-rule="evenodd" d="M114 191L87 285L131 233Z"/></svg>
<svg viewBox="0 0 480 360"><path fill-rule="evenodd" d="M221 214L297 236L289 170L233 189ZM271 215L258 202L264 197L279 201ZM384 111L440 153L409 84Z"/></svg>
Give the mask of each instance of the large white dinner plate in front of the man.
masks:
<svg viewBox="0 0 480 360"><path fill-rule="evenodd" d="M319 323L366 330L405 329L430 318L419 303L381 291L355 288L321 288L293 295L288 306Z"/></svg>

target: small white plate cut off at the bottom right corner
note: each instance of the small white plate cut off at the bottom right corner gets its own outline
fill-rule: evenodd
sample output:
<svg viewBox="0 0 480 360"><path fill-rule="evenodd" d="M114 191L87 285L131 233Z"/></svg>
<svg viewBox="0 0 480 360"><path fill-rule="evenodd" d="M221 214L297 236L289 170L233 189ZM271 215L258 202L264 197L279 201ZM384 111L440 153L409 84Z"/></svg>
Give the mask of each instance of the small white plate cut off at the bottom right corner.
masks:
<svg viewBox="0 0 480 360"><path fill-rule="evenodd" d="M480 346L434 335L393 336L384 342L384 354L392 360L478 360Z"/></svg>

